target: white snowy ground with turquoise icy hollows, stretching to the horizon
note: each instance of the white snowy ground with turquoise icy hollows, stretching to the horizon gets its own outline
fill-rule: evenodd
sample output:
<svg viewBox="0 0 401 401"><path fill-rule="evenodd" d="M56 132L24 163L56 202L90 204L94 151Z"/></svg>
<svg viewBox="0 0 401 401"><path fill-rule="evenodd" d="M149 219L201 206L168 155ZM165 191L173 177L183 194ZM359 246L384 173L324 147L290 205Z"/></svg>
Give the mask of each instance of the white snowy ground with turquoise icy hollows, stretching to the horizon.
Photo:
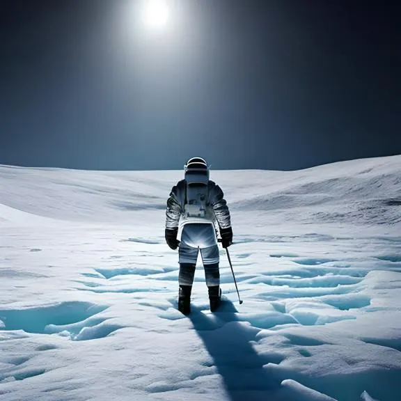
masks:
<svg viewBox="0 0 401 401"><path fill-rule="evenodd" d="M176 310L182 171L0 166L0 400L401 400L401 156L212 171L221 250Z"/></svg>

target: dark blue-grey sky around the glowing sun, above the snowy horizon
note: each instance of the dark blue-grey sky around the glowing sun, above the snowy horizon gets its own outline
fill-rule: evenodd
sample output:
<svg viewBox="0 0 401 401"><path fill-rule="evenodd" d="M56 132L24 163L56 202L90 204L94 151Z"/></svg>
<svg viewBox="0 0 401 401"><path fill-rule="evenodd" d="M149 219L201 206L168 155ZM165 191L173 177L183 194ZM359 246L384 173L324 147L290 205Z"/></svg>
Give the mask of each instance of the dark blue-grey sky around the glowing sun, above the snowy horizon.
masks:
<svg viewBox="0 0 401 401"><path fill-rule="evenodd" d="M162 0L160 0L162 1ZM396 4L2 0L0 164L295 170L401 154Z"/></svg>

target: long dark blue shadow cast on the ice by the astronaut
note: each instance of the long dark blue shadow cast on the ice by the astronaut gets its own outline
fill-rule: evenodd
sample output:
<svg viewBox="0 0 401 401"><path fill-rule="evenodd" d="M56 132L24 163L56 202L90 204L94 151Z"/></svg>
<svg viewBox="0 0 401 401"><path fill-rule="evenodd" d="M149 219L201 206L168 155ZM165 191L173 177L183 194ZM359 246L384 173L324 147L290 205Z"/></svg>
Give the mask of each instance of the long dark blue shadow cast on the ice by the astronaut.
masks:
<svg viewBox="0 0 401 401"><path fill-rule="evenodd" d="M189 319L212 357L230 400L266 400L280 381L269 377L263 369L269 359L251 346L256 331L239 322L235 313L233 303L224 300L219 312L210 315L193 306Z"/></svg>

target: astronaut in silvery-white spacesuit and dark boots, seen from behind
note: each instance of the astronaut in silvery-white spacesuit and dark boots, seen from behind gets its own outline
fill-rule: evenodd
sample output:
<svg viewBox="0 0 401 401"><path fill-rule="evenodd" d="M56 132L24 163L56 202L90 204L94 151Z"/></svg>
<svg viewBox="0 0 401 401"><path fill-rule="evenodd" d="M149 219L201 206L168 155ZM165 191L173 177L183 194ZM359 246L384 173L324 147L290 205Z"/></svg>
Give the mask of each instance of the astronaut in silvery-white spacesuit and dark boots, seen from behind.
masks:
<svg viewBox="0 0 401 401"><path fill-rule="evenodd" d="M219 248L217 230L223 248L233 242L230 212L223 191L209 180L209 168L201 157L189 159L184 180L171 189L167 200L165 237L171 249L178 249L180 274L178 309L189 314L196 260L201 252L209 291L210 310L220 304ZM180 241L177 237L180 233Z"/></svg>

